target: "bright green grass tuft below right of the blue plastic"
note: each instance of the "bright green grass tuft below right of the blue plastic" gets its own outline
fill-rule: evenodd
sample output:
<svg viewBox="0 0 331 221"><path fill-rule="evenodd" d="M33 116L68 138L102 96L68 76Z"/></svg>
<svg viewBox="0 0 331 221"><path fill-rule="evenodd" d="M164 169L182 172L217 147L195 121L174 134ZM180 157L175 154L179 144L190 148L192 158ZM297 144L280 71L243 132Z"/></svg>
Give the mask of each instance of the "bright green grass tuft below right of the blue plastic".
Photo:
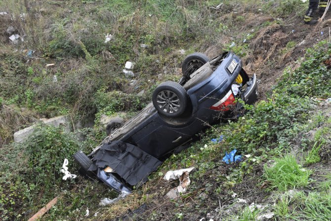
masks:
<svg viewBox="0 0 331 221"><path fill-rule="evenodd" d="M264 166L263 177L270 182L270 189L277 188L280 191L308 185L308 177L312 173L302 168L292 155L275 158L275 164Z"/></svg>

